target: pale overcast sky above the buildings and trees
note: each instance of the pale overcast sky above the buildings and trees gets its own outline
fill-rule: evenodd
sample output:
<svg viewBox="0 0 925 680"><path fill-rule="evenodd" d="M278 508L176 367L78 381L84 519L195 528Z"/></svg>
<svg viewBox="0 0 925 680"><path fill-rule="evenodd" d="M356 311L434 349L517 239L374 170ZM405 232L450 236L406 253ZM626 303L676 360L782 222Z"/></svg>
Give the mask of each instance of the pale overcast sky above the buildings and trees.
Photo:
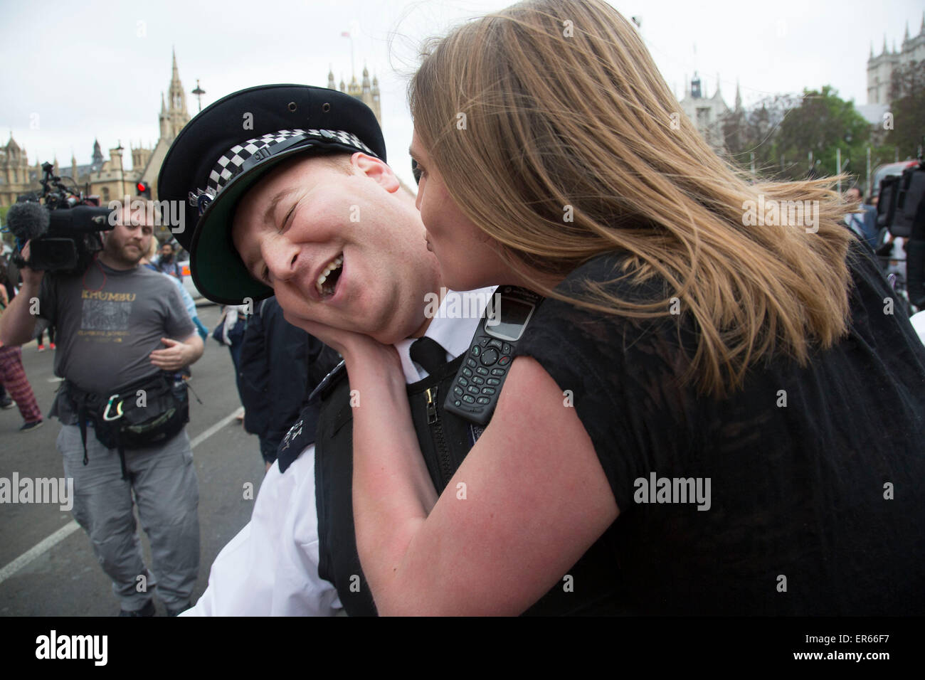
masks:
<svg viewBox="0 0 925 680"><path fill-rule="evenodd" d="M0 143L9 132L34 165L71 153L89 163L93 139L105 157L121 140L153 144L160 97L170 80L170 49L191 115L200 80L203 106L245 87L271 82L327 85L364 64L379 78L388 160L413 185L407 159L412 122L405 85L423 39L508 6L491 0L163 0L127 3L5 0L0 24ZM741 83L748 105L769 93L833 85L867 103L867 59L886 34L902 43L908 22L919 33L921 0L704 0L611 2L642 34L669 86L684 95L695 68L712 95L719 74L733 104ZM146 6L145 6L146 5ZM341 36L350 31L352 40ZM695 47L696 45L696 47ZM37 126L38 129L34 129Z"/></svg>

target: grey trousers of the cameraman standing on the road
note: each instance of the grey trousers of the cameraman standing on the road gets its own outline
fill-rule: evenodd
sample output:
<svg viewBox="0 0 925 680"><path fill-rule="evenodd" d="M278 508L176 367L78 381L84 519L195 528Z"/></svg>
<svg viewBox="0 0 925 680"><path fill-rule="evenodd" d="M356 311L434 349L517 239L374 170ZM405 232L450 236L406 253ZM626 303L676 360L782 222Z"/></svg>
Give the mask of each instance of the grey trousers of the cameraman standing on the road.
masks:
<svg viewBox="0 0 925 680"><path fill-rule="evenodd" d="M199 573L199 484L186 428L160 446L125 451L128 480L122 479L118 451L106 449L93 427L87 427L86 465L80 427L62 426L57 447L65 476L74 478L71 513L90 536L122 609L142 609L155 586L167 608L185 606ZM132 491L151 541L151 571L142 558Z"/></svg>

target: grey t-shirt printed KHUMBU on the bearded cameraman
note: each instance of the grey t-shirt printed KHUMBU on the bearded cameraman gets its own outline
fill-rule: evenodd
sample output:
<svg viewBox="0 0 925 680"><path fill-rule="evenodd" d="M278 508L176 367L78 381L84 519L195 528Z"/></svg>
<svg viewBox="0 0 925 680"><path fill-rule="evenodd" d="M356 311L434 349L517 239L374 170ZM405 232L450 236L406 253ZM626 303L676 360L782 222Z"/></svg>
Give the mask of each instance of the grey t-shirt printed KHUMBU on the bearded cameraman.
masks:
<svg viewBox="0 0 925 680"><path fill-rule="evenodd" d="M195 330L176 286L146 267L119 271L94 262L82 276L49 274L39 294L39 315L56 327L55 375L81 389L108 392L158 368L150 354L161 338L186 340ZM50 416L73 425L61 392Z"/></svg>

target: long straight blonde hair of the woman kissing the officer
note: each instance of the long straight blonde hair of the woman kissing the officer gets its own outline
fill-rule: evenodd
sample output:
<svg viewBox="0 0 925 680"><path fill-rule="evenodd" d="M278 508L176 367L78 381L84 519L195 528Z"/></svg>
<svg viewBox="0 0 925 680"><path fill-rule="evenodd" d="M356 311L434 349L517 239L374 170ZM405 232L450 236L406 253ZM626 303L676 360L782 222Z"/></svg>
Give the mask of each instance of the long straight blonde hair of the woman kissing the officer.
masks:
<svg viewBox="0 0 925 680"><path fill-rule="evenodd" d="M617 252L623 276L664 278L664 298L650 303L592 282L570 298L531 280L607 314L680 306L699 335L686 377L702 391L738 387L775 352L805 364L814 343L845 334L852 237L837 224L833 180L749 184L704 142L611 6L540 0L463 24L425 49L409 102L450 195L512 268L563 276ZM782 212L767 225L771 204Z"/></svg>

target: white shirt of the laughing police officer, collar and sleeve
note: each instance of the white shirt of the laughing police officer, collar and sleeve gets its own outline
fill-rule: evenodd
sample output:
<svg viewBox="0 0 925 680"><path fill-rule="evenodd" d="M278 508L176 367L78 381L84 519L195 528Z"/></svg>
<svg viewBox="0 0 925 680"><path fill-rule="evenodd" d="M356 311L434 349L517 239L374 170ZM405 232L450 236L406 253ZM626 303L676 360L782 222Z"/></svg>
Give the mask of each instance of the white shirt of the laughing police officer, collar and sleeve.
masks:
<svg viewBox="0 0 925 680"><path fill-rule="evenodd" d="M449 291L425 336L437 340L451 360L469 348L484 302L493 288L465 293ZM447 318L453 295L478 296L477 316ZM474 298L475 299L475 298ZM457 301L458 302L458 301ZM470 305L455 305L463 313ZM405 381L427 372L411 360L413 339L395 349ZM209 585L184 616L333 616L342 606L334 585L318 575L318 513L314 498L314 444L279 472L274 463L257 493L251 521L218 553Z"/></svg>

